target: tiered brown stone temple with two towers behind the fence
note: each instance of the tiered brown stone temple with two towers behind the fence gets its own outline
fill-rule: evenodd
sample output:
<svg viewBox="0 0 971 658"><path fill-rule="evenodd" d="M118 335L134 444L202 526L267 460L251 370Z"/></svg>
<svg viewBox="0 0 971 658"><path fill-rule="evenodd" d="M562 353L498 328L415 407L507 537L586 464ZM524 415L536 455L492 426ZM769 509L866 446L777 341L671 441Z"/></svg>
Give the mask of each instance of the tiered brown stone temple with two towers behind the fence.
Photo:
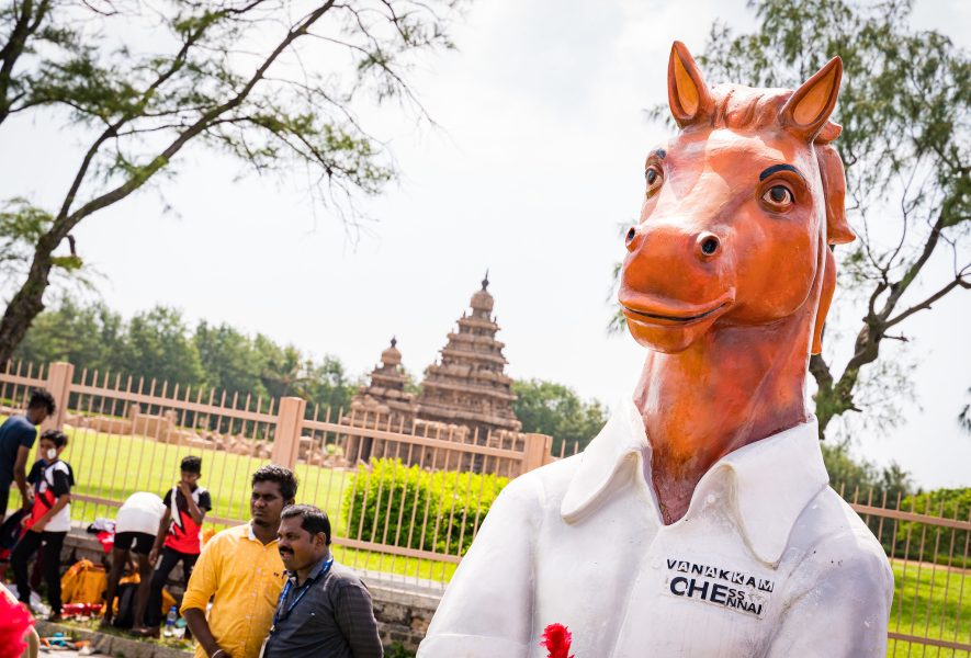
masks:
<svg viewBox="0 0 971 658"><path fill-rule="evenodd" d="M393 338L381 353L381 364L371 372L370 384L354 396L343 422L478 445L510 446L521 441L522 423L512 411L516 394L512 378L505 373L505 345L496 340L499 326L488 286L486 273L482 288L472 295L471 309L448 334L438 361L426 368L420 395L407 390L402 353ZM414 455L380 454L380 440L363 441L370 445L348 446L351 460L397 456L417 463Z"/></svg>

